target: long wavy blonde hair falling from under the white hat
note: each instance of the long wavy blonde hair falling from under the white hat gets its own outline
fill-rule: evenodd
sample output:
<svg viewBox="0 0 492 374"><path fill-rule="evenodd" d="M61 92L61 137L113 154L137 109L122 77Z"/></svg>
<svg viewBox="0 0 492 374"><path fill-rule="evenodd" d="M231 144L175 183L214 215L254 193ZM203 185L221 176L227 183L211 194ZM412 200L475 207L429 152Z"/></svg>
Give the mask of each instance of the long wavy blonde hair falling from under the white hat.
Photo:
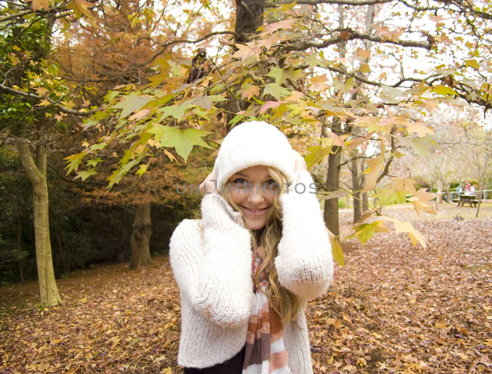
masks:
<svg viewBox="0 0 492 374"><path fill-rule="evenodd" d="M270 178L277 183L277 193L274 197L274 203L267 211L265 226L260 230L251 230L247 224L246 217L243 210L232 201L230 191L227 188L227 183L223 186L220 195L227 201L235 211L241 212L245 222L245 227L251 232L251 247L253 251L256 251L259 246L263 246L266 250L267 257L261 263L256 270L256 276L254 283L264 293L272 308L274 308L278 315L282 318L282 322L285 324L290 320L295 320L297 314L301 308L302 299L293 294L287 288L280 285L278 281L277 269L275 268L275 258L277 257L277 245L282 238L282 208L279 203L279 197L287 190L287 179L285 175L277 168L271 166L265 166L270 175ZM280 187L280 189L278 189ZM192 211L192 215L195 219L201 220L201 210L196 208ZM204 229L202 223L199 223L201 230ZM266 285L266 293L263 292L260 283L259 275L263 269L268 268L269 279Z"/></svg>

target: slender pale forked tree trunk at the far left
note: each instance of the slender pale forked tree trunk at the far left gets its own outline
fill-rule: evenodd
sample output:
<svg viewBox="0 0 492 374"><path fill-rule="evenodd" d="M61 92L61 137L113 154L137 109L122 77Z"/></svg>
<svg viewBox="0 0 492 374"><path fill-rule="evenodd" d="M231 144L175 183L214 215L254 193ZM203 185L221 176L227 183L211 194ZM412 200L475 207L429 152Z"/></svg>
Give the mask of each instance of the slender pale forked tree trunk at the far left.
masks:
<svg viewBox="0 0 492 374"><path fill-rule="evenodd" d="M41 304L53 306L62 303L55 281L51 254L50 226L48 216L48 185L46 183L46 149L36 147L36 162L27 143L18 144L22 166L32 185L34 206L34 239L36 246L37 277Z"/></svg>

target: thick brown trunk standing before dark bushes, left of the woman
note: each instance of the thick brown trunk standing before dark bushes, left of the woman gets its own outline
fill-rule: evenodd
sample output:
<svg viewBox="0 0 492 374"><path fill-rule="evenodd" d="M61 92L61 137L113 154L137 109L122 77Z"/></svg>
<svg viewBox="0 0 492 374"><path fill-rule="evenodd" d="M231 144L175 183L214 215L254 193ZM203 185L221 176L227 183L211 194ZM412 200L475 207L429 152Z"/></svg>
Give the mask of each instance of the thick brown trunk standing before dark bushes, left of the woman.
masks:
<svg viewBox="0 0 492 374"><path fill-rule="evenodd" d="M152 263L150 251L151 203L138 204L136 209L133 232L130 237L130 269L132 270Z"/></svg>

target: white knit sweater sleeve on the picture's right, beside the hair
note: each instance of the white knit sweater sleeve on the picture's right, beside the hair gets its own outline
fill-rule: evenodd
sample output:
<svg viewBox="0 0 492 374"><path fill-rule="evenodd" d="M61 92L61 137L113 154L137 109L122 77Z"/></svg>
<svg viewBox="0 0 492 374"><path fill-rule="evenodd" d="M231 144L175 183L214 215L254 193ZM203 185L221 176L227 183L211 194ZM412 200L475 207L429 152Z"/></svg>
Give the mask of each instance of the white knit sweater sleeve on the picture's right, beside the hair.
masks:
<svg viewBox="0 0 492 374"><path fill-rule="evenodd" d="M283 228L275 259L278 281L305 300L324 293L334 270L330 239L314 192L311 174L301 170L279 197Z"/></svg>

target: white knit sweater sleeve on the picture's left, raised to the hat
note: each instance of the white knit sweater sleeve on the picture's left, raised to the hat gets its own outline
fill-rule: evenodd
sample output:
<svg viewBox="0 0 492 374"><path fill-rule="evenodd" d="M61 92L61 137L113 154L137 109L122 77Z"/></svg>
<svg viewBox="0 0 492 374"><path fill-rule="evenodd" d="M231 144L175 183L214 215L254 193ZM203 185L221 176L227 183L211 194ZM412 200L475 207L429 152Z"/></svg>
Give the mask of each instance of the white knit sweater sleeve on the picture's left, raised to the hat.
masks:
<svg viewBox="0 0 492 374"><path fill-rule="evenodd" d="M174 277L198 313L219 325L243 325L255 302L250 232L241 212L218 194L206 195L201 210L203 233L196 220L185 219L171 236Z"/></svg>

